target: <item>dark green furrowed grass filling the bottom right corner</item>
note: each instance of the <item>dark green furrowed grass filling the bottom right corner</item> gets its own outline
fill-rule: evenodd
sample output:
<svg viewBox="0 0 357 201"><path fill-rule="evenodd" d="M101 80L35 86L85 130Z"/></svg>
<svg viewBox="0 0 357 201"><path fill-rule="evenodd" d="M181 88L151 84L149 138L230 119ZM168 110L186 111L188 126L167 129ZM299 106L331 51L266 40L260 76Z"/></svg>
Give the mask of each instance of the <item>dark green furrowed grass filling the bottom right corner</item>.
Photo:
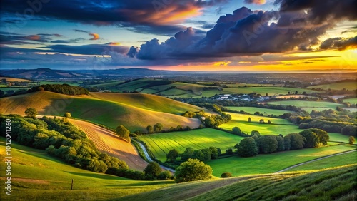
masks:
<svg viewBox="0 0 357 201"><path fill-rule="evenodd" d="M357 165L257 176L211 190L188 200L355 200Z"/></svg>

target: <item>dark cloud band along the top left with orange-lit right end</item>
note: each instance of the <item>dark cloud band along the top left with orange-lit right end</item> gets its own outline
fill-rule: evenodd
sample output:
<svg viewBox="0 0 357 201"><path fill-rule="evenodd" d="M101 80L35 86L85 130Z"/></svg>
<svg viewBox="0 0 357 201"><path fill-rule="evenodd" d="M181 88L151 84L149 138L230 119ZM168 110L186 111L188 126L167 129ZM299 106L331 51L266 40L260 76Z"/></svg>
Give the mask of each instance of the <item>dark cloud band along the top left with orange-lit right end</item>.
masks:
<svg viewBox="0 0 357 201"><path fill-rule="evenodd" d="M68 2L48 1L41 4L27 2L26 0L3 0L1 12L14 16L16 13L23 14L26 9L33 9L36 19L61 19L97 26L124 25L129 27L127 25L130 24L137 26L136 29L140 29L140 26L152 26L152 29L156 31L156 29L161 29L161 26L177 26L188 17L200 14L201 9L221 4L226 0L71 0ZM172 32L171 29L167 29L166 34L181 30L176 28ZM155 31L152 33L156 33Z"/></svg>

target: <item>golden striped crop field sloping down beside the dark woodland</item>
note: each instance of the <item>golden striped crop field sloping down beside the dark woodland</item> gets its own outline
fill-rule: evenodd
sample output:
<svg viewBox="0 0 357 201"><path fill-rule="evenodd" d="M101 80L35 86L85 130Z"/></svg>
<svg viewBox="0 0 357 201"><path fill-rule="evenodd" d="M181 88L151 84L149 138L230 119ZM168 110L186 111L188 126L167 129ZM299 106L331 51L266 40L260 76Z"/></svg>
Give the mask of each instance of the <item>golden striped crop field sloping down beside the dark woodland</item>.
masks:
<svg viewBox="0 0 357 201"><path fill-rule="evenodd" d="M79 130L86 133L99 151L124 160L126 164L129 165L129 168L144 170L146 165L148 165L148 163L139 156L134 145L121 140L114 132L82 120L70 119L70 122Z"/></svg>

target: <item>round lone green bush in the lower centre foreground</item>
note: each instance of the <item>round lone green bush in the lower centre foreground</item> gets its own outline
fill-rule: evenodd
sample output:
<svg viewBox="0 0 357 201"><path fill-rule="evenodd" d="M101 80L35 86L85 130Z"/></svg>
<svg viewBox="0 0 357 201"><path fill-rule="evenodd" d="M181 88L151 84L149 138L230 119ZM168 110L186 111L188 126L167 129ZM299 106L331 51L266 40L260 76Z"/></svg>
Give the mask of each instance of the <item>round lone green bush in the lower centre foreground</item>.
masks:
<svg viewBox="0 0 357 201"><path fill-rule="evenodd" d="M212 177L212 168L197 159L188 159L181 163L175 172L175 182L208 180Z"/></svg>

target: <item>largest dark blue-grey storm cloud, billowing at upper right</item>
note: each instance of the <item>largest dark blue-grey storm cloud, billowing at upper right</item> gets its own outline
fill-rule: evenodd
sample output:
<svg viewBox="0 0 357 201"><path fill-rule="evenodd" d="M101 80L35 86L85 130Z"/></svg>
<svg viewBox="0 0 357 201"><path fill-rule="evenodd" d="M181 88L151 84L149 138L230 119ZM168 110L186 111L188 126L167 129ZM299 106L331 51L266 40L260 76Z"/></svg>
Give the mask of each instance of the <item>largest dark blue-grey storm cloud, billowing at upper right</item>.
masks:
<svg viewBox="0 0 357 201"><path fill-rule="evenodd" d="M233 14L221 16L204 38L192 40L191 37L196 36L193 33L191 37L178 40L175 36L164 43L153 39L141 45L136 56L148 60L189 60L311 51L313 46L320 43L318 38L336 26L336 23L356 19L357 12L349 8L355 2L281 0L276 1L281 4L279 11L251 11L242 7ZM180 45L170 41L179 41Z"/></svg>

